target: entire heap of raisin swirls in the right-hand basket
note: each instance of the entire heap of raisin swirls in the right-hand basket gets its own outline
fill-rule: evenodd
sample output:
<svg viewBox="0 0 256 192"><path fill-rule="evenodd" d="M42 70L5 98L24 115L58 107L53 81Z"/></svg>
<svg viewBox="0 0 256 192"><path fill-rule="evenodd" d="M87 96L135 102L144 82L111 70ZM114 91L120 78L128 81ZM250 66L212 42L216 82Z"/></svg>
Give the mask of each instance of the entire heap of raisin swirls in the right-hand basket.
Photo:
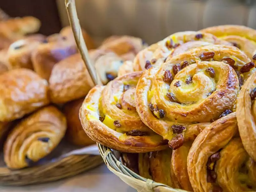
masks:
<svg viewBox="0 0 256 192"><path fill-rule="evenodd" d="M196 192L256 190L256 30L178 32L93 87L79 117L140 176Z"/></svg>

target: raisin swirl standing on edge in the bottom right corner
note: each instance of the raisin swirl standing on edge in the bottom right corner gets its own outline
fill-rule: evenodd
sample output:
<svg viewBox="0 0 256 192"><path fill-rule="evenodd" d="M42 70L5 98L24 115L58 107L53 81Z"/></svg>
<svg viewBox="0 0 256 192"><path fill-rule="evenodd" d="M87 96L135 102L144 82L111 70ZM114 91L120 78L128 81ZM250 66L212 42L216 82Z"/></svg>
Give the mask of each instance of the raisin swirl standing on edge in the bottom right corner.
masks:
<svg viewBox="0 0 256 192"><path fill-rule="evenodd" d="M206 127L188 153L188 175L195 192L255 191L255 171L238 135L236 113Z"/></svg>

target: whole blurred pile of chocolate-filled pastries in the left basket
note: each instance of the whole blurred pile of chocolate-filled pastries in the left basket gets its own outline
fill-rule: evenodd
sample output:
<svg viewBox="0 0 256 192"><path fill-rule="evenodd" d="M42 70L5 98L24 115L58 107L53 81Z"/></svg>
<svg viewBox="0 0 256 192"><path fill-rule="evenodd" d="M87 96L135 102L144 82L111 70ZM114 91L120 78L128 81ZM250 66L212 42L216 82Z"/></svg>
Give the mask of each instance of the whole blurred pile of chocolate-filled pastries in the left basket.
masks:
<svg viewBox="0 0 256 192"><path fill-rule="evenodd" d="M50 36L31 35L40 27L33 17L1 21L0 26L0 138L7 167L35 165L65 135L71 144L94 144L78 116L93 83L71 28ZM146 45L140 38L112 36L94 49L82 31L102 84L113 80L119 67Z"/></svg>

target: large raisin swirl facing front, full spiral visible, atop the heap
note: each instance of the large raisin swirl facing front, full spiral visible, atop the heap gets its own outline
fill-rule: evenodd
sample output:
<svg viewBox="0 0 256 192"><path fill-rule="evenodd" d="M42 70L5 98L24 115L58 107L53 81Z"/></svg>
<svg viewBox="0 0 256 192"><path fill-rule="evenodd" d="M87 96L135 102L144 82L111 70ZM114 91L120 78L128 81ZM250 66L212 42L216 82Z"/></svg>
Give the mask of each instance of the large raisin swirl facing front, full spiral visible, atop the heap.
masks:
<svg viewBox="0 0 256 192"><path fill-rule="evenodd" d="M241 79L234 68L247 79L255 71L247 68L250 63L244 52L227 45L204 46L168 58L140 77L135 100L141 120L170 140L170 147L178 148L190 126L216 120L234 107Z"/></svg>

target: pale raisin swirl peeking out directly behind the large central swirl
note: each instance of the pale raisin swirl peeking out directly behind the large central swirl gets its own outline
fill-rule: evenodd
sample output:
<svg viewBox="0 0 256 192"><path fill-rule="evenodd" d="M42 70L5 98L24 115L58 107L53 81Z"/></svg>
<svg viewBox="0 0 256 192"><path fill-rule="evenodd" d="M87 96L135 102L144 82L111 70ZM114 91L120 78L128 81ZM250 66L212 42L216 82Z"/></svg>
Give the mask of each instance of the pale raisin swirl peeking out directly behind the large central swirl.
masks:
<svg viewBox="0 0 256 192"><path fill-rule="evenodd" d="M134 71L145 70L151 65L163 63L170 54L174 56L190 49L209 44L231 45L208 33L196 31L178 32L139 52L134 59L133 69Z"/></svg>

